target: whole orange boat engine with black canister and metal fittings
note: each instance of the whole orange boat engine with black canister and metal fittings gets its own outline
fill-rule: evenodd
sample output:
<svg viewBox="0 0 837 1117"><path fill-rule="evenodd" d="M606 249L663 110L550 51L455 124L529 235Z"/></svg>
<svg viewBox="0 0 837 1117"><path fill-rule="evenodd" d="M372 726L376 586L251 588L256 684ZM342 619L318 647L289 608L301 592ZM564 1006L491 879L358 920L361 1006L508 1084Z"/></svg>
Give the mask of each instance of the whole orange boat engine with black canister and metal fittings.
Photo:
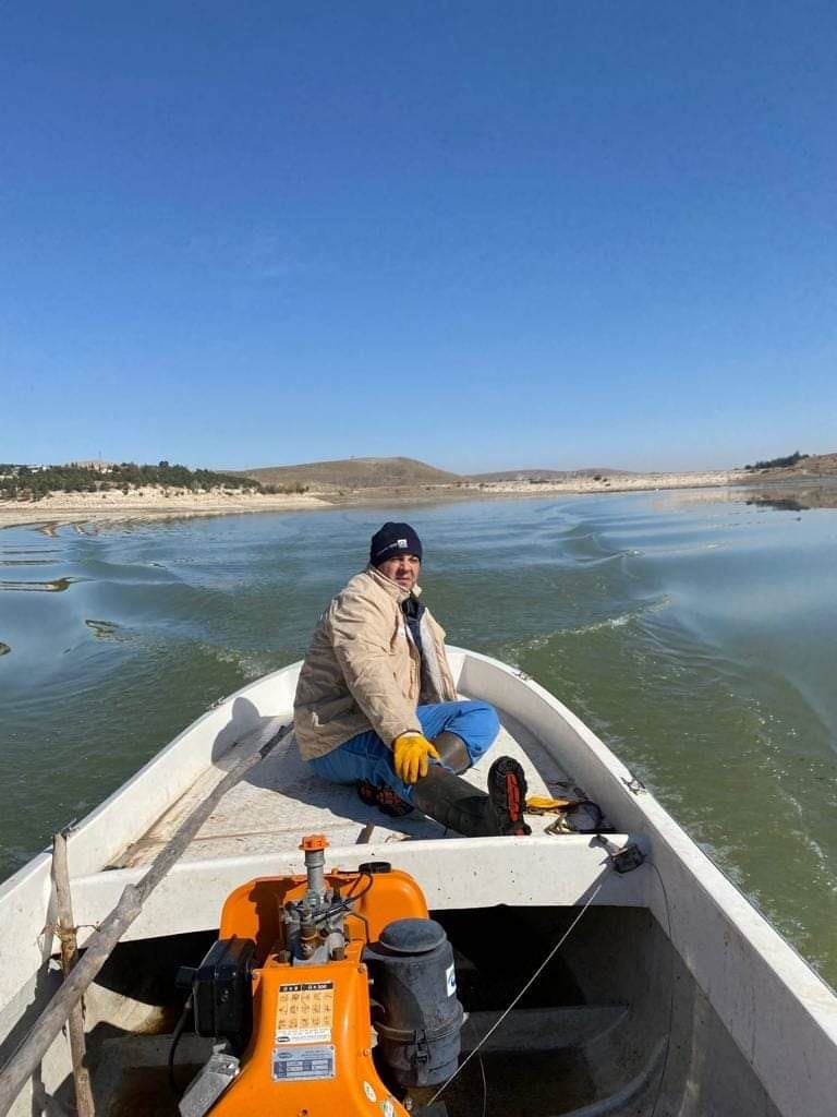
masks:
<svg viewBox="0 0 837 1117"><path fill-rule="evenodd" d="M182 1117L406 1117L404 1101L416 1117L455 1070L453 952L421 888L386 862L326 872L326 844L302 840L305 876L228 897L187 974L195 1030L217 1043Z"/></svg>

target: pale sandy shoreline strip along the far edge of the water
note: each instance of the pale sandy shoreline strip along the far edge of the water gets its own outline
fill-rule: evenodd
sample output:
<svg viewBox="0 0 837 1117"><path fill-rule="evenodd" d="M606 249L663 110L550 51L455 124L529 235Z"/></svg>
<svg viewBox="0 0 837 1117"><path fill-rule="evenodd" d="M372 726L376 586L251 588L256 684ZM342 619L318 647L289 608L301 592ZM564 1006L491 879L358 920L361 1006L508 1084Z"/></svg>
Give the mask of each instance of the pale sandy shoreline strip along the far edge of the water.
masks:
<svg viewBox="0 0 837 1117"><path fill-rule="evenodd" d="M800 484L807 478L799 477ZM776 481L787 484L787 477ZM704 470L689 474L629 474L561 481L490 481L454 485L411 485L339 489L320 488L305 494L219 494L164 491L146 488L122 493L55 494L36 504L0 502L0 529L40 527L52 534L69 524L126 524L131 522L191 519L196 516L254 515L271 512L326 512L334 508L381 505L415 506L458 500L539 499L560 496L589 496L608 493L654 493L685 489L764 486L767 478L744 470Z"/></svg>

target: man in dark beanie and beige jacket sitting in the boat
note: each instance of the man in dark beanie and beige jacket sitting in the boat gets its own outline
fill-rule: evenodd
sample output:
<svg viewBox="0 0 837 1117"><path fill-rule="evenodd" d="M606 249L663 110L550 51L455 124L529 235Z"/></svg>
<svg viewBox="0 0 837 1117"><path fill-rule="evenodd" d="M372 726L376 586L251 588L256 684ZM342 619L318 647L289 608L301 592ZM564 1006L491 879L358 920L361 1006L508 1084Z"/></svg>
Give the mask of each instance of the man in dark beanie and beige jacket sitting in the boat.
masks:
<svg viewBox="0 0 837 1117"><path fill-rule="evenodd" d="M369 565L320 617L294 706L300 753L386 814L415 806L465 837L529 833L516 760L494 761L488 794L460 779L500 723L488 703L456 700L444 630L420 599L421 562L410 524L384 524Z"/></svg>

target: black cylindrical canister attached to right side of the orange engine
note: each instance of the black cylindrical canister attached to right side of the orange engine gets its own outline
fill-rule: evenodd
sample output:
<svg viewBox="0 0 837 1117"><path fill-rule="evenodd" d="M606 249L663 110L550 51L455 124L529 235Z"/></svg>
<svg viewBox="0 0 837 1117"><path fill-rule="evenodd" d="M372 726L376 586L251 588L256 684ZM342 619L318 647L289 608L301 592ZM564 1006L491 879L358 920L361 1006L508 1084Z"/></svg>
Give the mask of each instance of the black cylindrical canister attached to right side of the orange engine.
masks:
<svg viewBox="0 0 837 1117"><path fill-rule="evenodd" d="M433 919L396 919L364 952L381 1057L400 1086L446 1081L459 1061L462 1005L453 949Z"/></svg>

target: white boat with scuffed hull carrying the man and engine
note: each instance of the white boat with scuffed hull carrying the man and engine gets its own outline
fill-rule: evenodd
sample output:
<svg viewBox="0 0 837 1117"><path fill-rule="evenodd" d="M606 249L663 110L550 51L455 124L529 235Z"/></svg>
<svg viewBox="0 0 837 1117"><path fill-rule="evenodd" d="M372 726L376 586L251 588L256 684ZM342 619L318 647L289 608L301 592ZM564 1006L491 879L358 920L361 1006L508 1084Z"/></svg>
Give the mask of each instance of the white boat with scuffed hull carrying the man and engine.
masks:
<svg viewBox="0 0 837 1117"><path fill-rule="evenodd" d="M531 818L531 837L475 839L422 818L387 819L300 762L288 728L298 663L244 687L69 834L84 946L195 805L242 756L261 751L87 990L96 1114L177 1111L165 1083L184 996L173 985L176 964L200 961L234 889L299 873L300 838L317 833L327 838L330 866L387 861L412 875L448 932L469 1013L462 1050L479 1047L480 1057L440 1099L451 1117L835 1117L837 997L829 986L557 698L485 656L452 648L450 659L459 691L491 701L503 726L469 779L484 784L492 755L516 755L530 794L598 804L604 836L562 832L555 815ZM0 888L7 1075L7 1060L61 983L58 939L45 929L56 919L50 861L41 853ZM211 1040L183 1037L182 1081L211 1049ZM70 1066L59 1034L6 1111L73 1110ZM386 1104L376 1097L369 1114L403 1111ZM286 1111L280 1094L264 1117ZM316 1105L292 1111L320 1113Z"/></svg>

